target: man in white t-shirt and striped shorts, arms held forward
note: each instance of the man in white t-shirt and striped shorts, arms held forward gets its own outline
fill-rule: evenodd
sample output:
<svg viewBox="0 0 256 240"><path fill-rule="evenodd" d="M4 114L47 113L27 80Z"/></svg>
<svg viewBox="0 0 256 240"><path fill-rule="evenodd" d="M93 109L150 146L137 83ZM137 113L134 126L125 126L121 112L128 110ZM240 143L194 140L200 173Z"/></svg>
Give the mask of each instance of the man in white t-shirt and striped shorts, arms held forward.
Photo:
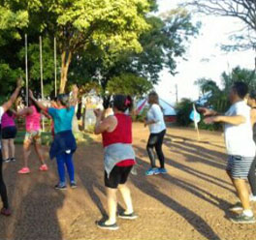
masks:
<svg viewBox="0 0 256 240"><path fill-rule="evenodd" d="M247 92L248 87L245 83L234 83L229 93L231 106L225 115L204 107L200 109L206 116L205 123L224 123L228 153L226 171L240 197L242 210L239 215L230 218L235 224L254 224L256 222L250 208L249 192L245 181L256 153L250 119L251 109L244 102ZM230 210L237 211L238 208L235 205Z"/></svg>

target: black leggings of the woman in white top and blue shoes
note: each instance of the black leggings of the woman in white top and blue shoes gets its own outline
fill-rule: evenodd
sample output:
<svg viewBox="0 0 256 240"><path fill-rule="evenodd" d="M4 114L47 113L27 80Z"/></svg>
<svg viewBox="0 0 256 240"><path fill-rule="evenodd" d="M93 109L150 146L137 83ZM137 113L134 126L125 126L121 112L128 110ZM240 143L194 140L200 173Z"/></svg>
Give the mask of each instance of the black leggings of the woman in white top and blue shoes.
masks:
<svg viewBox="0 0 256 240"><path fill-rule="evenodd" d="M146 150L147 150L147 154L150 159L150 163L151 163L152 167L156 167L153 148L155 148L157 157L160 161L160 166L162 168L165 167L165 156L162 151L162 145L163 145L163 140L164 140L165 134L166 134L166 130L162 131L159 134L150 134L149 135L147 145L146 145Z"/></svg>

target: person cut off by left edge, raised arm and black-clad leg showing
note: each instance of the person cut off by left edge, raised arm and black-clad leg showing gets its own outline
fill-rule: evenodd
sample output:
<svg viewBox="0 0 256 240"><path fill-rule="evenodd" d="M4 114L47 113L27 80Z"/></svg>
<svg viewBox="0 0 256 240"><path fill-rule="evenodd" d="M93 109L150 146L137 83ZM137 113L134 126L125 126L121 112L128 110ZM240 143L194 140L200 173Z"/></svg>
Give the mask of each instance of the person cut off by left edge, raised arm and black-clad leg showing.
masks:
<svg viewBox="0 0 256 240"><path fill-rule="evenodd" d="M16 83L16 91L13 93L13 95L11 96L10 100L8 102L6 102L5 104L0 106L0 123L1 123L1 119L3 114L12 107L12 105L15 103L16 101L16 97L19 93L19 90L21 88L21 79L17 80ZM2 151L1 151L1 142L0 142L0 195L3 201L3 207L0 211L0 213L2 215L5 216L10 216L11 215L11 210L9 208L9 203L8 203L8 197L7 197L7 190L6 190L6 185L4 182L4 178L3 178L3 161L2 161Z"/></svg>

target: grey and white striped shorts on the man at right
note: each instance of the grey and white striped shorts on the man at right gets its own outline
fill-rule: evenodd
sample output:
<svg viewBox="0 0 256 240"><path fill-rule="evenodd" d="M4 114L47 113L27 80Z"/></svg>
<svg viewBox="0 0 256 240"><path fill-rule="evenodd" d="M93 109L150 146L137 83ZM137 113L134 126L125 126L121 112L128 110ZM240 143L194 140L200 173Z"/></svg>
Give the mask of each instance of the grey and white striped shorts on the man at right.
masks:
<svg viewBox="0 0 256 240"><path fill-rule="evenodd" d="M229 155L228 165L226 170L231 174L231 177L247 179L250 166L254 157L241 157Z"/></svg>

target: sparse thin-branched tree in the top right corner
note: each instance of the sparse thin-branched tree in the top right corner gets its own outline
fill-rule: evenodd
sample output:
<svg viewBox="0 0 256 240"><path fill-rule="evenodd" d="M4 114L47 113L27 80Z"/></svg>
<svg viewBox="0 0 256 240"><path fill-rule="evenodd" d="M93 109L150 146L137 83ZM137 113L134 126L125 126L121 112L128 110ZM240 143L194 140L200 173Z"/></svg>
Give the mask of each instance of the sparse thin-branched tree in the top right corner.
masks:
<svg viewBox="0 0 256 240"><path fill-rule="evenodd" d="M186 6L195 7L206 15L223 15L240 19L244 28L231 35L235 45L223 45L226 50L256 49L256 1L252 0L188 0ZM255 63L256 64L256 63Z"/></svg>

